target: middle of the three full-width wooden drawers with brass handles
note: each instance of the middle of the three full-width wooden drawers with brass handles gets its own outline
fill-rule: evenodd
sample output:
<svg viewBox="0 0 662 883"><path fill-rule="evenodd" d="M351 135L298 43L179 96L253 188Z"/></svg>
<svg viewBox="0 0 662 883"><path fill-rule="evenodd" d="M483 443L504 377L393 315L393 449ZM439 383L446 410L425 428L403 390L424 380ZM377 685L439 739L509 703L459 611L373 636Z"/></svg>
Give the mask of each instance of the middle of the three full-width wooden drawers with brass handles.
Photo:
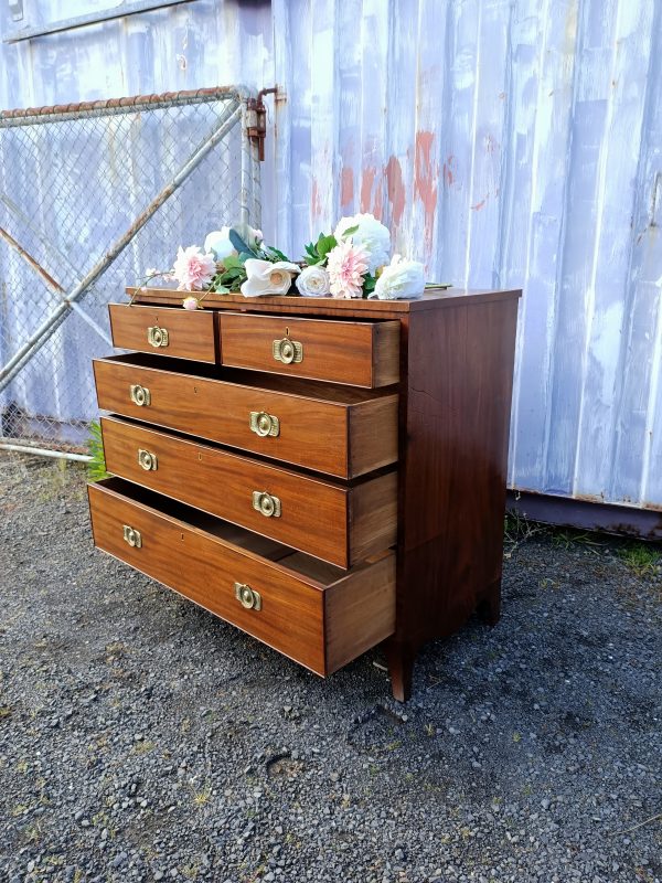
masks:
<svg viewBox="0 0 662 883"><path fill-rule="evenodd" d="M394 471L350 486L116 417L102 428L109 472L339 567L395 543Z"/></svg>

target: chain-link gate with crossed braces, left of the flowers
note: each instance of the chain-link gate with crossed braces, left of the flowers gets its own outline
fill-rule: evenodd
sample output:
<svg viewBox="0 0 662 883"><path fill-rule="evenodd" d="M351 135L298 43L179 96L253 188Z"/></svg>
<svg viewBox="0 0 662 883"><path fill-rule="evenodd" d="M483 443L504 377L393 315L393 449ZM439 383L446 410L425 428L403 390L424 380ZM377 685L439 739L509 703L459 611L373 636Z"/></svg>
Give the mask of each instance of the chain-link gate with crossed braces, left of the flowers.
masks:
<svg viewBox="0 0 662 883"><path fill-rule="evenodd" d="M0 447L84 449L107 304L178 245L259 226L250 107L217 88L0 115Z"/></svg>

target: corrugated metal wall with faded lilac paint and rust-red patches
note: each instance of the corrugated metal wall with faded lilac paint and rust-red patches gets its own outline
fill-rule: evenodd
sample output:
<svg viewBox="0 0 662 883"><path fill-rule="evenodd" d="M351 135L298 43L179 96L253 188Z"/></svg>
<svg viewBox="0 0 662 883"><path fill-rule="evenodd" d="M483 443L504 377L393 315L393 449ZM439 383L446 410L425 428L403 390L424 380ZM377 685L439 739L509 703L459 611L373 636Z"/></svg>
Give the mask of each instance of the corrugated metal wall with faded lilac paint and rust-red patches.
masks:
<svg viewBox="0 0 662 883"><path fill-rule="evenodd" d="M268 236L372 211L429 278L524 287L511 486L655 508L661 49L656 0L196 0L3 45L0 100L277 83Z"/></svg>

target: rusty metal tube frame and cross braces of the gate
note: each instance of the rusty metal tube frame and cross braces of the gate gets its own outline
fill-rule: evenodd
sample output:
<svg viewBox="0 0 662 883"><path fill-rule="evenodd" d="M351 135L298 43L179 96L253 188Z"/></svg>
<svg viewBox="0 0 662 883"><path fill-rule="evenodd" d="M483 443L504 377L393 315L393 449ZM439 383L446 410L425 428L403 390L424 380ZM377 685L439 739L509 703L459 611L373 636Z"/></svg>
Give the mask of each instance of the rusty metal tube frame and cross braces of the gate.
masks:
<svg viewBox="0 0 662 883"><path fill-rule="evenodd" d="M265 136L264 105L261 98L264 94L269 92L275 92L275 89L263 89L256 99L248 89L242 86L218 86L213 88L163 93L161 95L138 95L128 98L82 102L78 104L4 110L0 113L0 130L2 130L20 126L63 123L81 117L116 116L121 114L135 114L142 109L157 110L178 105L192 105L213 100L227 102L227 107L223 110L212 132L197 145L192 153L190 153L171 181L166 184L160 193L158 193L140 214L138 214L122 235L113 243L85 277L68 290L54 279L41 264L23 248L21 243L3 227L0 227L0 236L4 242L10 248L17 252L38 276L40 276L42 281L57 294L61 301L41 326L9 359L7 364L0 366L0 392L9 385L21 369L30 362L44 343L54 334L67 316L73 312L79 315L97 334L111 345L111 341L106 332L81 307L81 301L85 298L92 285L113 265L115 259L124 252L127 245L129 245L136 234L158 212L161 205L163 205L163 203L166 203L166 201L182 185L207 153L210 153L210 151L212 151L238 124L242 126L239 220L244 223L250 222L256 226L260 226L259 162L260 159L264 158ZM0 192L0 202L4 204L11 215L18 217L31 230L40 244L53 251L54 246L47 242L43 234L34 228L20 206L15 205L7 194ZM57 256L61 259L65 259L65 263L68 263L60 253L57 253ZM0 448L8 450L28 450L33 454L53 457L88 459L85 455L31 447L24 444L0 442Z"/></svg>

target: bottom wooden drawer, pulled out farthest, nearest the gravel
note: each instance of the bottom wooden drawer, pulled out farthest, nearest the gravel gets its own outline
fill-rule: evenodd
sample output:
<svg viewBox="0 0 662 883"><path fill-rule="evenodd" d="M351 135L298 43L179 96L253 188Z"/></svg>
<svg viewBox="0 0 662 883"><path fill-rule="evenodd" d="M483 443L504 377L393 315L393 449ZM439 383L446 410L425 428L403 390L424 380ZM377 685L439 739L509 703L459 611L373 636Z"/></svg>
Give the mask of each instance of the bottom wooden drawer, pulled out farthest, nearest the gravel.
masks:
<svg viewBox="0 0 662 883"><path fill-rule="evenodd" d="M394 631L393 552L343 573L117 478L88 494L98 549L318 674Z"/></svg>

